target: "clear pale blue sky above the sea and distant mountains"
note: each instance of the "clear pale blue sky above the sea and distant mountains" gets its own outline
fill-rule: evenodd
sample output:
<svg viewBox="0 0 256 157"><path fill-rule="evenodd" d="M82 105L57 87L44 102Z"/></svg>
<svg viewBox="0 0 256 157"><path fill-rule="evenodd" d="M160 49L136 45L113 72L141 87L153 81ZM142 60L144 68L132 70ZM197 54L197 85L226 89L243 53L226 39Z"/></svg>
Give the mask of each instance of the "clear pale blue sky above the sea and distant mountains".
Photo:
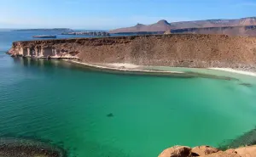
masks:
<svg viewBox="0 0 256 157"><path fill-rule="evenodd" d="M0 28L111 30L256 16L256 0L0 0Z"/></svg>

